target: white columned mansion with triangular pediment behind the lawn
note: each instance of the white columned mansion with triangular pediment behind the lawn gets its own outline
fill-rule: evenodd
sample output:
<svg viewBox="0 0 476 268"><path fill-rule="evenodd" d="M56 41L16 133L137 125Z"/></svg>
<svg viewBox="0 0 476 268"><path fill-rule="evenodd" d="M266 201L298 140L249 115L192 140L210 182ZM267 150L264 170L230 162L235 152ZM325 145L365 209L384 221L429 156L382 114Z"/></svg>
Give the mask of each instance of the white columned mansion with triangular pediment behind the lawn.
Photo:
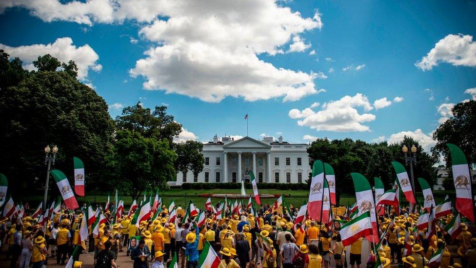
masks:
<svg viewBox="0 0 476 268"><path fill-rule="evenodd" d="M198 176L193 171L178 172L177 181L182 183L227 183L250 181L250 170L261 183L305 183L312 173L307 148L309 144L290 144L279 137L255 140L244 137L233 140L215 135L213 142L203 144L205 158L203 171Z"/></svg>

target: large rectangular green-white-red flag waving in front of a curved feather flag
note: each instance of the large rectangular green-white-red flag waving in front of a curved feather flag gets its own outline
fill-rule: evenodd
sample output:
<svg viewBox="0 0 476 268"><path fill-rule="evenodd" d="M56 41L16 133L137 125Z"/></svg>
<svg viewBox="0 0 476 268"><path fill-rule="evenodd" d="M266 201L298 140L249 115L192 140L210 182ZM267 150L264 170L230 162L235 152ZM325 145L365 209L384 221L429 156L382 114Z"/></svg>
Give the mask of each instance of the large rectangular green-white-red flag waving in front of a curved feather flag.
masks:
<svg viewBox="0 0 476 268"><path fill-rule="evenodd" d="M340 228L340 237L342 238L344 247L351 245L361 237L370 235L372 235L370 211L363 213Z"/></svg>

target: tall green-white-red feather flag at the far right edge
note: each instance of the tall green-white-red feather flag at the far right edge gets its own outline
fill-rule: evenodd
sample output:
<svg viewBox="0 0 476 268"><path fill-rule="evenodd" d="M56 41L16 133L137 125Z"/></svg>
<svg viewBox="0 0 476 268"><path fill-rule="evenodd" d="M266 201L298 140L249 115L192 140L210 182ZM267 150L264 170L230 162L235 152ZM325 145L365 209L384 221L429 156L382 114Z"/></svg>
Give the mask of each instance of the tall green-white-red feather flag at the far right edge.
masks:
<svg viewBox="0 0 476 268"><path fill-rule="evenodd" d="M455 144L446 144L450 148L453 182L456 188L456 210L470 221L475 222L474 202L471 192L471 174L463 151Z"/></svg>

